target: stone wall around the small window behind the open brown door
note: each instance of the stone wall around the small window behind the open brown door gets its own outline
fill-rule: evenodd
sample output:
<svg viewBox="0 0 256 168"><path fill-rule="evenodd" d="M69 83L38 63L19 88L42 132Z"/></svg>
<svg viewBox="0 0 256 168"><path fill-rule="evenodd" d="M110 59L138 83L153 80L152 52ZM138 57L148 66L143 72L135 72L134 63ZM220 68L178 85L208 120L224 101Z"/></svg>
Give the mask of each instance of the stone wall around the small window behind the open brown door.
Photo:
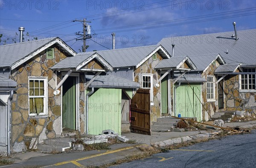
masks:
<svg viewBox="0 0 256 168"><path fill-rule="evenodd" d="M143 74L153 74L153 102L154 105L151 106L151 123L157 120L157 117L161 116L160 110L160 102L161 102L161 94L160 94L160 87L156 87L157 79L160 78L160 73L157 73L154 70L154 67L159 63L159 61L163 60L163 58L157 53L157 60L153 60L152 57L148 58L140 67L138 67L134 71L134 81L140 84L142 88L142 80ZM159 83L160 84L160 83Z"/></svg>

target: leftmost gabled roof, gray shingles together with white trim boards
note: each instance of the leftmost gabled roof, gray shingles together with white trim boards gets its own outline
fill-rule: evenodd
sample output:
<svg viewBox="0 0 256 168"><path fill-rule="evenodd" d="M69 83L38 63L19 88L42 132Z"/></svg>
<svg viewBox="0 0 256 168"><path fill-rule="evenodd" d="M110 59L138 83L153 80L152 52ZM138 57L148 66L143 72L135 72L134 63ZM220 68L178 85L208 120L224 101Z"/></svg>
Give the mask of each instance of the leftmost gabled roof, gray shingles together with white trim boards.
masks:
<svg viewBox="0 0 256 168"><path fill-rule="evenodd" d="M76 52L58 37L6 44L0 46L0 67L10 67L13 70L53 44L57 44L67 55L76 55Z"/></svg>

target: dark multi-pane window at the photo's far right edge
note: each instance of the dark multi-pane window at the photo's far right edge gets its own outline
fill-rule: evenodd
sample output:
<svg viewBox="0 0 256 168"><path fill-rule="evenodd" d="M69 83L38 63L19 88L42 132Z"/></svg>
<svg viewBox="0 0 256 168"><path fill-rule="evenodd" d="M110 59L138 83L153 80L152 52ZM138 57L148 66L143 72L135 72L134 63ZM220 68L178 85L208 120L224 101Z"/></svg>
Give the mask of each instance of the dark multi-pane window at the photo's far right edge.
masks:
<svg viewBox="0 0 256 168"><path fill-rule="evenodd" d="M254 72L255 68L244 69L244 72ZM255 90L255 75L254 74L245 74L240 75L241 83L240 90Z"/></svg>

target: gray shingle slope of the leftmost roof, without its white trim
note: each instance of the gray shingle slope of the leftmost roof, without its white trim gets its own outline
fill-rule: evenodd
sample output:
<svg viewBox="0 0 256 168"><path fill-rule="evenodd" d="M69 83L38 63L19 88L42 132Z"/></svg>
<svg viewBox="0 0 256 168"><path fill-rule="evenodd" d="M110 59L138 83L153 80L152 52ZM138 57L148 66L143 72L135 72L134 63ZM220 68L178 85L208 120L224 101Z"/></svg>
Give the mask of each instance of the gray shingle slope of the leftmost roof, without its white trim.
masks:
<svg viewBox="0 0 256 168"><path fill-rule="evenodd" d="M2 45L0 46L0 67L10 67L15 62L56 39L59 38L43 38L35 41Z"/></svg>

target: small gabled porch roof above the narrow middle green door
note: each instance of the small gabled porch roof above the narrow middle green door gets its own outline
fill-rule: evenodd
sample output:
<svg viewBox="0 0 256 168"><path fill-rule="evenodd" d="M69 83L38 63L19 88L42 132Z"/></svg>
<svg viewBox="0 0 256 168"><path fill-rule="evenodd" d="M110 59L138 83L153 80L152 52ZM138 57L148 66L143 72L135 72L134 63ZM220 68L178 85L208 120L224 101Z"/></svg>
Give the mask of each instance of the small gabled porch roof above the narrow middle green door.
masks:
<svg viewBox="0 0 256 168"><path fill-rule="evenodd" d="M189 63L189 66L191 67L192 70L197 69L195 64L191 61L191 59L188 56L186 56L186 57L171 57L169 59L164 59L160 63L158 63L155 68L156 69L174 68L174 69L178 70L178 69L180 69L181 65L186 61Z"/></svg>

